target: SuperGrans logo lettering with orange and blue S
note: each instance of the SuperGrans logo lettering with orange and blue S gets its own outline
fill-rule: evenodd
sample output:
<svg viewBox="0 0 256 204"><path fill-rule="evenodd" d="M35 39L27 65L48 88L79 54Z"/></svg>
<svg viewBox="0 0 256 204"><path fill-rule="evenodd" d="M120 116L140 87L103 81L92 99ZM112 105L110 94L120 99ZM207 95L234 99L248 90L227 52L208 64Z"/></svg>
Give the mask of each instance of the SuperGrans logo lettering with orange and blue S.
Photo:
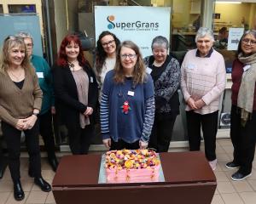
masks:
<svg viewBox="0 0 256 204"><path fill-rule="evenodd" d="M124 31L157 31L159 28L158 22L142 22L141 20L133 22L114 22L115 17L108 15L108 29L120 28Z"/></svg>

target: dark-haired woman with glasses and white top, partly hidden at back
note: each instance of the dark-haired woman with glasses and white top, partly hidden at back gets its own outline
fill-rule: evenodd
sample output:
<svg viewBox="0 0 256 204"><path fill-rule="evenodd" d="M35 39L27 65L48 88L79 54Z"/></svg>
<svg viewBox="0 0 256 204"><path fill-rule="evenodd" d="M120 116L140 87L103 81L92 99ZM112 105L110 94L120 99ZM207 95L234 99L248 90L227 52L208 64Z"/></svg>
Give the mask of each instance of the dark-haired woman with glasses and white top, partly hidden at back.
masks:
<svg viewBox="0 0 256 204"><path fill-rule="evenodd" d="M108 71L113 70L119 44L119 38L109 31L102 31L97 41L96 64L94 70L100 88L99 102L101 100L104 78Z"/></svg>

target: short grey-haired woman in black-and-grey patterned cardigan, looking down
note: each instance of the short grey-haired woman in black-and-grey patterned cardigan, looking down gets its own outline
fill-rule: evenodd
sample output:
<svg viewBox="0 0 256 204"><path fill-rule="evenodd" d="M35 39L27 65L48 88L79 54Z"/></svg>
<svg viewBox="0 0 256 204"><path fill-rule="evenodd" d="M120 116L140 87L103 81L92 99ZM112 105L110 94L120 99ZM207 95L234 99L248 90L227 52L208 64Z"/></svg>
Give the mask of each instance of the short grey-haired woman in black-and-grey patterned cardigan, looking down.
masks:
<svg viewBox="0 0 256 204"><path fill-rule="evenodd" d="M177 59L168 55L166 37L154 37L152 56L144 59L147 72L154 80L154 126L148 147L166 152L172 139L172 129L179 114L177 88L180 83L180 66Z"/></svg>

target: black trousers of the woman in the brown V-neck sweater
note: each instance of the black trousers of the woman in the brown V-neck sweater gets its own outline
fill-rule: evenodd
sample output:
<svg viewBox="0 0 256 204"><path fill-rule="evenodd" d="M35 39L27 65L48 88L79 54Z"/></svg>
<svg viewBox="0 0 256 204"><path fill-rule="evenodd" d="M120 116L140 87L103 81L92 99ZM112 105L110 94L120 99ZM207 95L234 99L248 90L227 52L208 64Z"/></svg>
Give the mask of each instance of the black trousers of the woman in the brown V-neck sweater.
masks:
<svg viewBox="0 0 256 204"><path fill-rule="evenodd" d="M9 152L9 171L13 181L20 179L20 130L2 122L3 136ZM32 129L24 131L26 136L26 148L28 150L29 162L35 177L41 176L41 156L38 139L38 121Z"/></svg>

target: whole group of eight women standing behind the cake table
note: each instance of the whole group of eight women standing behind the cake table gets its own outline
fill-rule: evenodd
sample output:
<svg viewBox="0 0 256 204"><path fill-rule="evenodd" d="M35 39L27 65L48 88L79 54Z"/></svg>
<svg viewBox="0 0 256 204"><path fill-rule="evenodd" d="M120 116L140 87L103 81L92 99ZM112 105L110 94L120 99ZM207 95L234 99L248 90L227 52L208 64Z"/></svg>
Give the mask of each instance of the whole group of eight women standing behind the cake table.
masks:
<svg viewBox="0 0 256 204"><path fill-rule="evenodd" d="M26 135L29 175L35 184L51 190L42 178L38 134L43 136L49 164L56 169L52 115L67 127L73 155L87 154L95 134L99 111L102 142L110 150L152 148L168 151L179 114L178 88L186 102L189 149L200 150L201 130L205 154L216 168L218 110L225 88L224 58L212 48L212 31L201 27L197 48L189 50L179 65L169 54L166 37L154 37L152 55L145 57L137 44L120 42L103 31L96 42L96 62L84 59L79 37L67 35L50 71L43 58L32 54L28 33L3 42L0 61L0 116L9 152L9 169L15 199L24 198L20 183L20 134ZM239 167L232 179L252 172L256 141L256 31L247 31L239 43L232 71L230 137ZM43 105L42 105L43 102Z"/></svg>

